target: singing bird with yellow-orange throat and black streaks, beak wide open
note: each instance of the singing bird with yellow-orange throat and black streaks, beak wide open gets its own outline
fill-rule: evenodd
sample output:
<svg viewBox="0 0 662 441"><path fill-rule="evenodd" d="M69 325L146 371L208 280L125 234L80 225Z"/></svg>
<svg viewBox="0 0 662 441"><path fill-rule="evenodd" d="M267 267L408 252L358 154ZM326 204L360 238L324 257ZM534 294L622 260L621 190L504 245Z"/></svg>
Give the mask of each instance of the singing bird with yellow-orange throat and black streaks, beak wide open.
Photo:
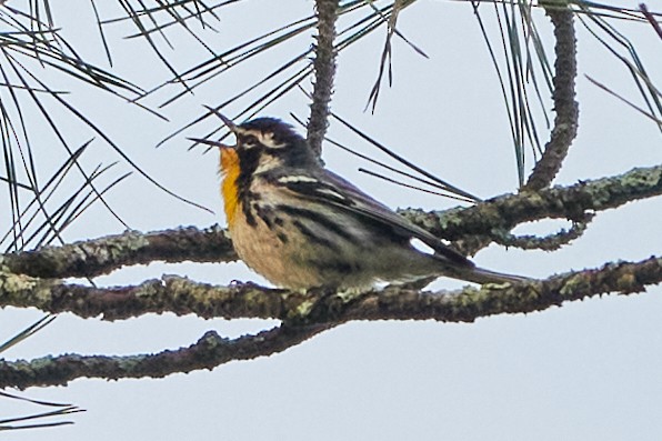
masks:
<svg viewBox="0 0 662 441"><path fill-rule="evenodd" d="M221 193L234 250L274 285L362 290L438 277L480 284L526 280L477 267L325 169L307 140L282 120L234 124L214 113L237 143L192 140L220 149ZM433 252L420 250L417 240Z"/></svg>

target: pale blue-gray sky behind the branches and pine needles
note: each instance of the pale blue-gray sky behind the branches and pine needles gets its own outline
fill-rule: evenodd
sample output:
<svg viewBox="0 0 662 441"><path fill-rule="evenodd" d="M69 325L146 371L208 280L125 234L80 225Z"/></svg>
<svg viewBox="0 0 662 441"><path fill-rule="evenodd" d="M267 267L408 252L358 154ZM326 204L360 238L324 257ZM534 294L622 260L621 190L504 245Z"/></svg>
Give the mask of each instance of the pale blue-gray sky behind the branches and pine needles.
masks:
<svg viewBox="0 0 662 441"><path fill-rule="evenodd" d="M53 4L56 21L79 44L83 56L102 63L92 12L87 2L78 3L70 9L76 11L74 17L67 17L69 10L56 9ZM623 6L634 8L635 3ZM245 2L221 9L217 48L228 48L311 8L312 1L290 1ZM491 18L490 8L481 7L487 20ZM108 7L108 11L111 9ZM540 11L535 14L541 31L549 34L548 20ZM71 28L74 20L84 22L83 17L90 20L89 26ZM635 36L634 42L659 84L662 63L655 54L660 40L644 26L619 26ZM471 8L421 1L402 13L399 29L430 59L422 59L397 40L394 87L382 90L374 114L363 112L384 40L383 30L375 32L341 54L333 110L401 154L473 193L488 198L514 191L516 174L504 107ZM584 73L590 74L636 99L626 71L579 24L578 31L580 134L558 182L569 184L660 163L662 142L654 124L583 78ZM126 33L127 28L118 27L111 28L109 36ZM174 37L180 34L173 32ZM289 47L290 53L305 49L310 41L301 38L298 43L298 49L295 44ZM149 87L156 79L168 78L144 41L114 41L112 48L118 69L139 84ZM203 56L199 47L180 41L175 49L173 60L179 68L190 67ZM188 151L183 136L158 150L153 146L198 117L202 104L217 104L233 96L247 78L268 71L287 53L279 50L164 109L170 123L118 100L101 101L103 94L96 91L76 90L71 100L81 107L91 104L86 111L149 173L168 188L217 210L211 216L183 206L134 176L108 198L132 228L148 231L224 223L215 152L202 156L200 150ZM150 103L159 103L165 96L160 94L159 100ZM307 117L307 110L305 98L294 92L263 114L293 122L289 112ZM187 136L202 136L210 127L200 127ZM73 143L92 136L73 124L71 128L77 130L71 133ZM331 126L329 136L375 154L338 124ZM546 139L546 133L542 137ZM43 170L54 168L62 151L52 142L52 133L44 130L36 138L42 149L39 158ZM83 157L90 169L100 161L117 159L99 140L92 149ZM324 159L329 168L393 208L454 204L361 174L357 169L365 164L333 147L325 147ZM122 170L128 167L122 166ZM474 260L485 268L531 277L618 259L640 260L661 253L661 214L660 200L636 202L600 213L581 239L558 252L491 247ZM535 231L555 227L536 225ZM120 231L120 225L98 206L66 237L79 240ZM232 279L261 281L239 263L158 263L124 269L101 278L101 283L136 283L162 273L215 283ZM438 285L459 284L441 281ZM40 313L32 310L0 311L0 339L38 317ZM284 353L229 363L211 372L160 380L77 380L67 388L30 389L24 392L30 398L72 402L88 412L73 415L74 425L12 432L11 439L659 440L660 317L662 290L655 287L645 294L608 295L528 315L480 319L472 324L348 323ZM62 314L6 357L157 352L189 345L210 329L232 337L272 324L204 321L172 314L107 323ZM0 400L2 415L29 409L33 410Z"/></svg>

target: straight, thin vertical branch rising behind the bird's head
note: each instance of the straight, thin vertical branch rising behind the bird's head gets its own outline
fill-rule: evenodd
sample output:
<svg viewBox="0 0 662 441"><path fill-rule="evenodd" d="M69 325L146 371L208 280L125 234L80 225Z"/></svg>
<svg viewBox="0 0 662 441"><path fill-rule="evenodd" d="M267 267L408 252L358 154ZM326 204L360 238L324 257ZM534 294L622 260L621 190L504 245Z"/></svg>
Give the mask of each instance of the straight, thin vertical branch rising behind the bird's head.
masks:
<svg viewBox="0 0 662 441"><path fill-rule="evenodd" d="M329 126L329 102L335 77L335 20L338 0L315 0L318 34L313 68L315 73L310 118L308 120L308 144L318 154L322 152L322 140Z"/></svg>

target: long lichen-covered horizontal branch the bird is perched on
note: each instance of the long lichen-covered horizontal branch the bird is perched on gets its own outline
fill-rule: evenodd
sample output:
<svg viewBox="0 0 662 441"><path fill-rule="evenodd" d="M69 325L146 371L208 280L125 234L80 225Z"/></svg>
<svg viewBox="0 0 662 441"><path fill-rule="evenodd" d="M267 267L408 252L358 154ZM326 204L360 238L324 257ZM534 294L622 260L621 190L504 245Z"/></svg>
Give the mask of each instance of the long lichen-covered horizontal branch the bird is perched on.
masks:
<svg viewBox="0 0 662 441"><path fill-rule="evenodd" d="M203 318L280 319L288 323L339 323L347 320L473 321L479 317L529 312L601 293L642 291L662 281L662 259L609 263L602 269L569 272L518 284L420 292L391 287L359 294L312 290L308 293L253 283L214 287L180 277L140 285L92 288L0 273L0 307L34 307L46 312L126 319L148 312L194 313Z"/></svg>

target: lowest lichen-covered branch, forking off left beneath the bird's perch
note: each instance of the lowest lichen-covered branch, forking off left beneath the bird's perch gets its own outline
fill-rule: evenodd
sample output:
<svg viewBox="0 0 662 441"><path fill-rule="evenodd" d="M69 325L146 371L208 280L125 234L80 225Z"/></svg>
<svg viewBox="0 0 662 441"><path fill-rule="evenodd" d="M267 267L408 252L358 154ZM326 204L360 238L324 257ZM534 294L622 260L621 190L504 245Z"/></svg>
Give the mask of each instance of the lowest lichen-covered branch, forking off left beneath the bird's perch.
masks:
<svg viewBox="0 0 662 441"><path fill-rule="evenodd" d="M213 369L232 360L281 352L328 329L328 325L278 327L254 335L225 339L207 332L188 348L124 357L64 354L24 361L0 360L0 389L64 385L78 378L162 378L175 372Z"/></svg>

